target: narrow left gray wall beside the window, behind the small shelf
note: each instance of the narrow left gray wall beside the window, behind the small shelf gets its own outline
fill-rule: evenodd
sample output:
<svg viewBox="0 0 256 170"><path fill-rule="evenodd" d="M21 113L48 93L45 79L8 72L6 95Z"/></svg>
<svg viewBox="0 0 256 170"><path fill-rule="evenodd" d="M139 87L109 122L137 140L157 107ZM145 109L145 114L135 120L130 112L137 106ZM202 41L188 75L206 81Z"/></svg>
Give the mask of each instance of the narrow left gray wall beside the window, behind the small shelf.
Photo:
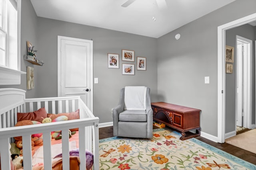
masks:
<svg viewBox="0 0 256 170"><path fill-rule="evenodd" d="M27 72L27 66L34 67L34 84L35 88L31 90L27 90L27 74L21 75L21 84L14 86L0 86L0 88L20 88L26 90L26 98L33 98L36 96L36 91L39 90L37 86L37 70L38 66L31 64L23 59L23 55L27 55L27 43L26 41L30 41L32 45L37 46L37 16L34 8L30 2L30 0L22 0L21 1L21 37L20 37L20 70Z"/></svg>

